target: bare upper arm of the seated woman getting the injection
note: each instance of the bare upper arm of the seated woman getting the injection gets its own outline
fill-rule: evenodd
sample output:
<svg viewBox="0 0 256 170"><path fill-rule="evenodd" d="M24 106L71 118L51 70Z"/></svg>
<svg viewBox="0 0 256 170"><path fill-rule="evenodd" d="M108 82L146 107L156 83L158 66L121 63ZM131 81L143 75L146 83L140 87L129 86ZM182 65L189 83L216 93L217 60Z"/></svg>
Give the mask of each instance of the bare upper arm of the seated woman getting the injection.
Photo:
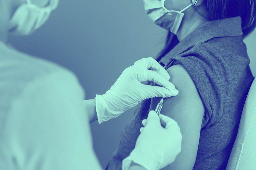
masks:
<svg viewBox="0 0 256 170"><path fill-rule="evenodd" d="M166 98L161 113L174 119L182 133L181 152L168 169L193 169L200 137L204 105L196 85L182 65L174 65L167 69L179 94ZM152 99L151 110L154 110L159 98Z"/></svg>

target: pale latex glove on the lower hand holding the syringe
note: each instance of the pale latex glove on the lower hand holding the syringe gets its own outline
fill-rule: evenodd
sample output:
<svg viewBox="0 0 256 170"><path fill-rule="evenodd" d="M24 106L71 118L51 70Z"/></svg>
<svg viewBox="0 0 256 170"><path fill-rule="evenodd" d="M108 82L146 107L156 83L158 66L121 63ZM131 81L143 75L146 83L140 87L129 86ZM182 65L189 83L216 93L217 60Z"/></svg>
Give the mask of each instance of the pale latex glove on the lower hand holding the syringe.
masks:
<svg viewBox="0 0 256 170"><path fill-rule="evenodd" d="M142 123L145 128L140 129L135 148L123 160L122 170L127 170L132 162L148 170L162 169L171 164L181 151L182 135L173 119L150 111L148 119Z"/></svg>

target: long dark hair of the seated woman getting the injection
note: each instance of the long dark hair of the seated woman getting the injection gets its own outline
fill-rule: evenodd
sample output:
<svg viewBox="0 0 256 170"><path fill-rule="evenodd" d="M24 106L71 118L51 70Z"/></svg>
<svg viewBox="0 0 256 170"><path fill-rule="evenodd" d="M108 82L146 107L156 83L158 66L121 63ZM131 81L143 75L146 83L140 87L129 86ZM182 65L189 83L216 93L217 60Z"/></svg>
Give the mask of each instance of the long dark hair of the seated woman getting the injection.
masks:
<svg viewBox="0 0 256 170"><path fill-rule="evenodd" d="M208 16L204 17L209 20L240 16L242 19L244 38L256 27L256 0L203 0L202 5L204 5L204 8L208 12ZM197 11L195 7L194 9ZM199 11L197 12L200 14ZM177 37L169 32L166 38L165 47L159 53L157 60L159 61L164 57L177 43Z"/></svg>

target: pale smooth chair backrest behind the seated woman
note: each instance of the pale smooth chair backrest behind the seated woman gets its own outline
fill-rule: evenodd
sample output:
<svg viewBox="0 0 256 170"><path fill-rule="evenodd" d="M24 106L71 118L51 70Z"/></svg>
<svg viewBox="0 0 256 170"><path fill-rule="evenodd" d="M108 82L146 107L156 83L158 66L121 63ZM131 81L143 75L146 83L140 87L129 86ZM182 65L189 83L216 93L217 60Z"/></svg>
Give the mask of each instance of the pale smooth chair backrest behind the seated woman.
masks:
<svg viewBox="0 0 256 170"><path fill-rule="evenodd" d="M244 105L226 170L256 170L256 78Z"/></svg>

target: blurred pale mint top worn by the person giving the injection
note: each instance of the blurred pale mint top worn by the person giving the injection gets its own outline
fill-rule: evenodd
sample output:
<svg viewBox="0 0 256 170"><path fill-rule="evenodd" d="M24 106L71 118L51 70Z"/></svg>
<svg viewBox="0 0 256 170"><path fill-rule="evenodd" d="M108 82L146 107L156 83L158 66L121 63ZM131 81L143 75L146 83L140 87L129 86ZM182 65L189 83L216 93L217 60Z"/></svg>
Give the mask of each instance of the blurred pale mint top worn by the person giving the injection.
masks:
<svg viewBox="0 0 256 170"><path fill-rule="evenodd" d="M73 73L0 42L0 169L101 169Z"/></svg>

